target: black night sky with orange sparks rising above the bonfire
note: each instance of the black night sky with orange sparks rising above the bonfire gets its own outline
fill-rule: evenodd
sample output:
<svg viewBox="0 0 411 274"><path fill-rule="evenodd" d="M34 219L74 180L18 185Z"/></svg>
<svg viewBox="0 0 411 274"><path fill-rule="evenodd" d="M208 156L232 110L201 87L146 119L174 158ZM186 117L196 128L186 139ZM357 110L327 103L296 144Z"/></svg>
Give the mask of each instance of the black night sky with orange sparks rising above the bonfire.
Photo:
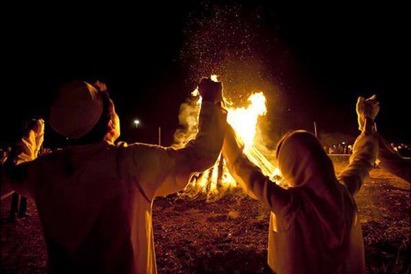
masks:
<svg viewBox="0 0 411 274"><path fill-rule="evenodd" d="M379 132L390 142L411 142L405 10L275 1L10 7L0 146L21 134L25 119L47 120L58 87L72 79L108 84L121 140L155 143L161 126L170 145L179 105L210 73L221 75L231 99L264 91L266 138L312 131L313 121L319 132L355 137L356 99L376 93ZM55 143L47 129L45 145Z"/></svg>

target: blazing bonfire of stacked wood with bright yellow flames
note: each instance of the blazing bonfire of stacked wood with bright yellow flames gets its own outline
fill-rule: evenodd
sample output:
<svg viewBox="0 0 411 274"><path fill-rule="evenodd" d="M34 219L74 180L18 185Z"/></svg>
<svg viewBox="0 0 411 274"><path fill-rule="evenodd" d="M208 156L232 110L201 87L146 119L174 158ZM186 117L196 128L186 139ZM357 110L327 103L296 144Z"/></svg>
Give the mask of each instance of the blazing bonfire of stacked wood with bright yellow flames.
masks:
<svg viewBox="0 0 411 274"><path fill-rule="evenodd" d="M217 81L216 75L211 79ZM256 148L254 142L257 134L258 119L266 114L266 98L263 92L254 92L248 98L247 107L235 108L228 103L227 122L241 136L244 142L243 152L247 158L260 167L264 175L274 179L279 176L279 170L267 160ZM201 105L201 97L198 90L191 93L191 97L180 107L179 122L182 129L175 132L175 147L182 147L195 137L198 131L198 114ZM222 155L207 171L192 177L190 184L180 197L199 199L203 197L206 201L216 201L225 196L229 190L237 187L236 180L230 175Z"/></svg>

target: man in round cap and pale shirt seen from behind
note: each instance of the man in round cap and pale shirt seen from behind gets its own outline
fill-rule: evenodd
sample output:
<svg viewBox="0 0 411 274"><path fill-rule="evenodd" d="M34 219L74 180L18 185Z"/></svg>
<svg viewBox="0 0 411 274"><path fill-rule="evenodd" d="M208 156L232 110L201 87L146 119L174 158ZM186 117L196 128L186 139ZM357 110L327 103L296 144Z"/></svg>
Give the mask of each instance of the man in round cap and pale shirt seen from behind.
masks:
<svg viewBox="0 0 411 274"><path fill-rule="evenodd" d="M31 162L5 170L5 182L36 203L50 273L156 273L153 199L182 190L223 146L221 82L201 80L199 132L182 149L114 145L119 116L104 90L101 83L62 86L49 124L73 145L34 160L41 145L34 142Z"/></svg>

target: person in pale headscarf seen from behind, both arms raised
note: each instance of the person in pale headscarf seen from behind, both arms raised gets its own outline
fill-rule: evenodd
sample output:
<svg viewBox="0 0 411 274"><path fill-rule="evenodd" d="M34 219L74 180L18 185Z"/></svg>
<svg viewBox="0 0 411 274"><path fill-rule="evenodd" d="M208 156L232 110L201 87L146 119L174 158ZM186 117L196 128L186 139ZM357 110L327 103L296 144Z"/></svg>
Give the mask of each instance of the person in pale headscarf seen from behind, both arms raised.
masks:
<svg viewBox="0 0 411 274"><path fill-rule="evenodd" d="M360 103L360 101L359 101ZM277 164L289 188L282 188L242 153L241 140L227 129L223 156L247 194L271 210L268 263L283 273L364 273L364 245L354 195L377 157L373 120L362 110L349 165L338 177L319 140L306 131L286 134L277 144Z"/></svg>

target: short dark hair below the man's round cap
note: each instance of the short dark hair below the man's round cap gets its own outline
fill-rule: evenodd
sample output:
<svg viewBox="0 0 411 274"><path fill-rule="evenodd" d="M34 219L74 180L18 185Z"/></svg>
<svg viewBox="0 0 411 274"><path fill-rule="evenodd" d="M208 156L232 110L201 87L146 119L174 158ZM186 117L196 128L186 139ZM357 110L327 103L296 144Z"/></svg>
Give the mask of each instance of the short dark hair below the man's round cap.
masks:
<svg viewBox="0 0 411 274"><path fill-rule="evenodd" d="M101 90L99 92L101 100L103 101L103 112L101 113L99 121L97 121L97 124L86 135L78 139L71 139L70 142L72 145L86 145L100 142L103 140L105 134L107 134L109 130L108 123L110 120L114 120L114 105L108 92Z"/></svg>

